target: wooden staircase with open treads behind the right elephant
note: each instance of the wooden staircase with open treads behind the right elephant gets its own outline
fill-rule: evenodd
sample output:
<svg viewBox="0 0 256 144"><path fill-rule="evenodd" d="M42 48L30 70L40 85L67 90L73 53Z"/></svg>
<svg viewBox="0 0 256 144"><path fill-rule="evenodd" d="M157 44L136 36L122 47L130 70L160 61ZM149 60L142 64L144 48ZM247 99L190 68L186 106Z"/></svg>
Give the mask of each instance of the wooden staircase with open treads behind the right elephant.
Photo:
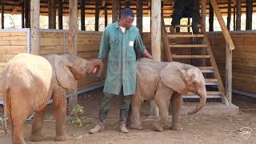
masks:
<svg viewBox="0 0 256 144"><path fill-rule="evenodd" d="M191 25L179 25L179 28L190 28ZM210 46L209 38L206 34L205 26L201 22L199 34L192 34L189 31L170 33L170 25L166 25L162 19L162 46L166 54L167 61L183 62L197 66L205 77L207 102L223 102L229 104L225 96L222 79L218 72L214 54ZM189 29L187 29L189 30ZM198 101L196 94L182 96L184 101Z"/></svg>

